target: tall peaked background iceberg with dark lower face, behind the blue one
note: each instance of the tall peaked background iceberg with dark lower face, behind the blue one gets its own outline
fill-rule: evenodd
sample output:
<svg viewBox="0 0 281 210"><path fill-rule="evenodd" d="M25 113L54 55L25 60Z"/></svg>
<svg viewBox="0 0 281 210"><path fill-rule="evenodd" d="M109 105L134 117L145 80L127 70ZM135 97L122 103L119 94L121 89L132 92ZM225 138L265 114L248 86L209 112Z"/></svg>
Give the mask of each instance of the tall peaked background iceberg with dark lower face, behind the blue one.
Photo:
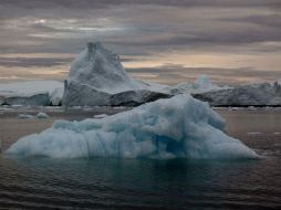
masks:
<svg viewBox="0 0 281 210"><path fill-rule="evenodd" d="M139 105L168 93L164 85L135 81L124 70L119 56L100 42L87 43L73 61L64 81L62 104L65 106Z"/></svg>

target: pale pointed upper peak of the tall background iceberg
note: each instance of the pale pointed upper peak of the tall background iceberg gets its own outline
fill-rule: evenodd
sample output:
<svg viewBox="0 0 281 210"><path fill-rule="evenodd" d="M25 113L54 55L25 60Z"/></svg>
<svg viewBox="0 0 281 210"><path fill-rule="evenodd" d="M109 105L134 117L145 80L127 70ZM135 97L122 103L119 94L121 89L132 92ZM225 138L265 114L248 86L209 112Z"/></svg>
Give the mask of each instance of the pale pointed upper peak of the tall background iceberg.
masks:
<svg viewBox="0 0 281 210"><path fill-rule="evenodd" d="M66 83L77 81L103 92L123 92L139 88L124 70L119 56L103 46L101 42L90 42L71 65Z"/></svg>

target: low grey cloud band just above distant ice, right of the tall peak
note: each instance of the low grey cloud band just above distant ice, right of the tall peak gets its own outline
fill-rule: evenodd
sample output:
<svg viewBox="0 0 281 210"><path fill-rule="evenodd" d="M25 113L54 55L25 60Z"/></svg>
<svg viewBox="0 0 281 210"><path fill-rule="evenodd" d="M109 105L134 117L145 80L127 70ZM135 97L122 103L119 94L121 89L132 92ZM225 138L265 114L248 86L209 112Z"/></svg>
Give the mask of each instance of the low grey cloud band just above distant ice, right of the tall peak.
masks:
<svg viewBox="0 0 281 210"><path fill-rule="evenodd" d="M273 82L280 77L279 71L257 71L252 67L223 69L223 67L185 67L183 65L163 65L158 67L127 69L133 75L148 73L155 75L155 81L164 81L166 84L178 82L191 82L200 74L207 74L217 84L248 83L251 80ZM243 78L243 82L240 80ZM262 80L261 80L262 78Z"/></svg>

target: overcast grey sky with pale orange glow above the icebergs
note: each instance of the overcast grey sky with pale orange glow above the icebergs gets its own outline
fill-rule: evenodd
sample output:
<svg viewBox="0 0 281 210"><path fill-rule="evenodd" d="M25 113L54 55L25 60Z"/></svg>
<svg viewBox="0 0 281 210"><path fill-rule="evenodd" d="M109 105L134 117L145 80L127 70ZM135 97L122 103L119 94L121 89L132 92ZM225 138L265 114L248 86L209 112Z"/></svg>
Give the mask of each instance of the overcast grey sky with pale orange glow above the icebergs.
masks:
<svg viewBox="0 0 281 210"><path fill-rule="evenodd" d="M0 82L60 80L101 41L140 80L281 78L280 0L0 0Z"/></svg>

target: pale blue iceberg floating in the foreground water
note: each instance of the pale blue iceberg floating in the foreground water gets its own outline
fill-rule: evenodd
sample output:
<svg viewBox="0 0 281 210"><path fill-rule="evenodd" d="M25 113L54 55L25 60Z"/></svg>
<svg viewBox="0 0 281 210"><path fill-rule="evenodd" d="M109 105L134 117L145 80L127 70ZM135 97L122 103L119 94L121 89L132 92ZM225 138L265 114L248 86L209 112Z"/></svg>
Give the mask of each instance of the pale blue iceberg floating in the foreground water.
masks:
<svg viewBox="0 0 281 210"><path fill-rule="evenodd" d="M41 134L19 139L7 153L55 158L258 158L227 136L223 126L207 103L177 95L101 119L58 120Z"/></svg>

